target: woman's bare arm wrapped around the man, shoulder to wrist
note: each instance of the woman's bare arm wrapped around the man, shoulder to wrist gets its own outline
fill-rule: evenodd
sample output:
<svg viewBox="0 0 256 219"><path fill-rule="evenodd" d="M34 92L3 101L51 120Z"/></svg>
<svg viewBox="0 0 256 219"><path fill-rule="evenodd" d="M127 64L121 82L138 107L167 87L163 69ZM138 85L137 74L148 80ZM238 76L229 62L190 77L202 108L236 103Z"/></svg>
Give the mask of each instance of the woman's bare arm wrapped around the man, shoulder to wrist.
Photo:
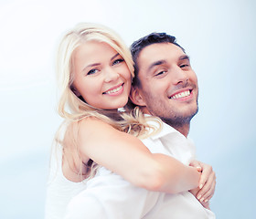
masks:
<svg viewBox="0 0 256 219"><path fill-rule="evenodd" d="M180 193L198 186L197 168L164 154L151 153L136 137L101 120L81 120L77 142L82 159L87 161L89 157L147 190Z"/></svg>

